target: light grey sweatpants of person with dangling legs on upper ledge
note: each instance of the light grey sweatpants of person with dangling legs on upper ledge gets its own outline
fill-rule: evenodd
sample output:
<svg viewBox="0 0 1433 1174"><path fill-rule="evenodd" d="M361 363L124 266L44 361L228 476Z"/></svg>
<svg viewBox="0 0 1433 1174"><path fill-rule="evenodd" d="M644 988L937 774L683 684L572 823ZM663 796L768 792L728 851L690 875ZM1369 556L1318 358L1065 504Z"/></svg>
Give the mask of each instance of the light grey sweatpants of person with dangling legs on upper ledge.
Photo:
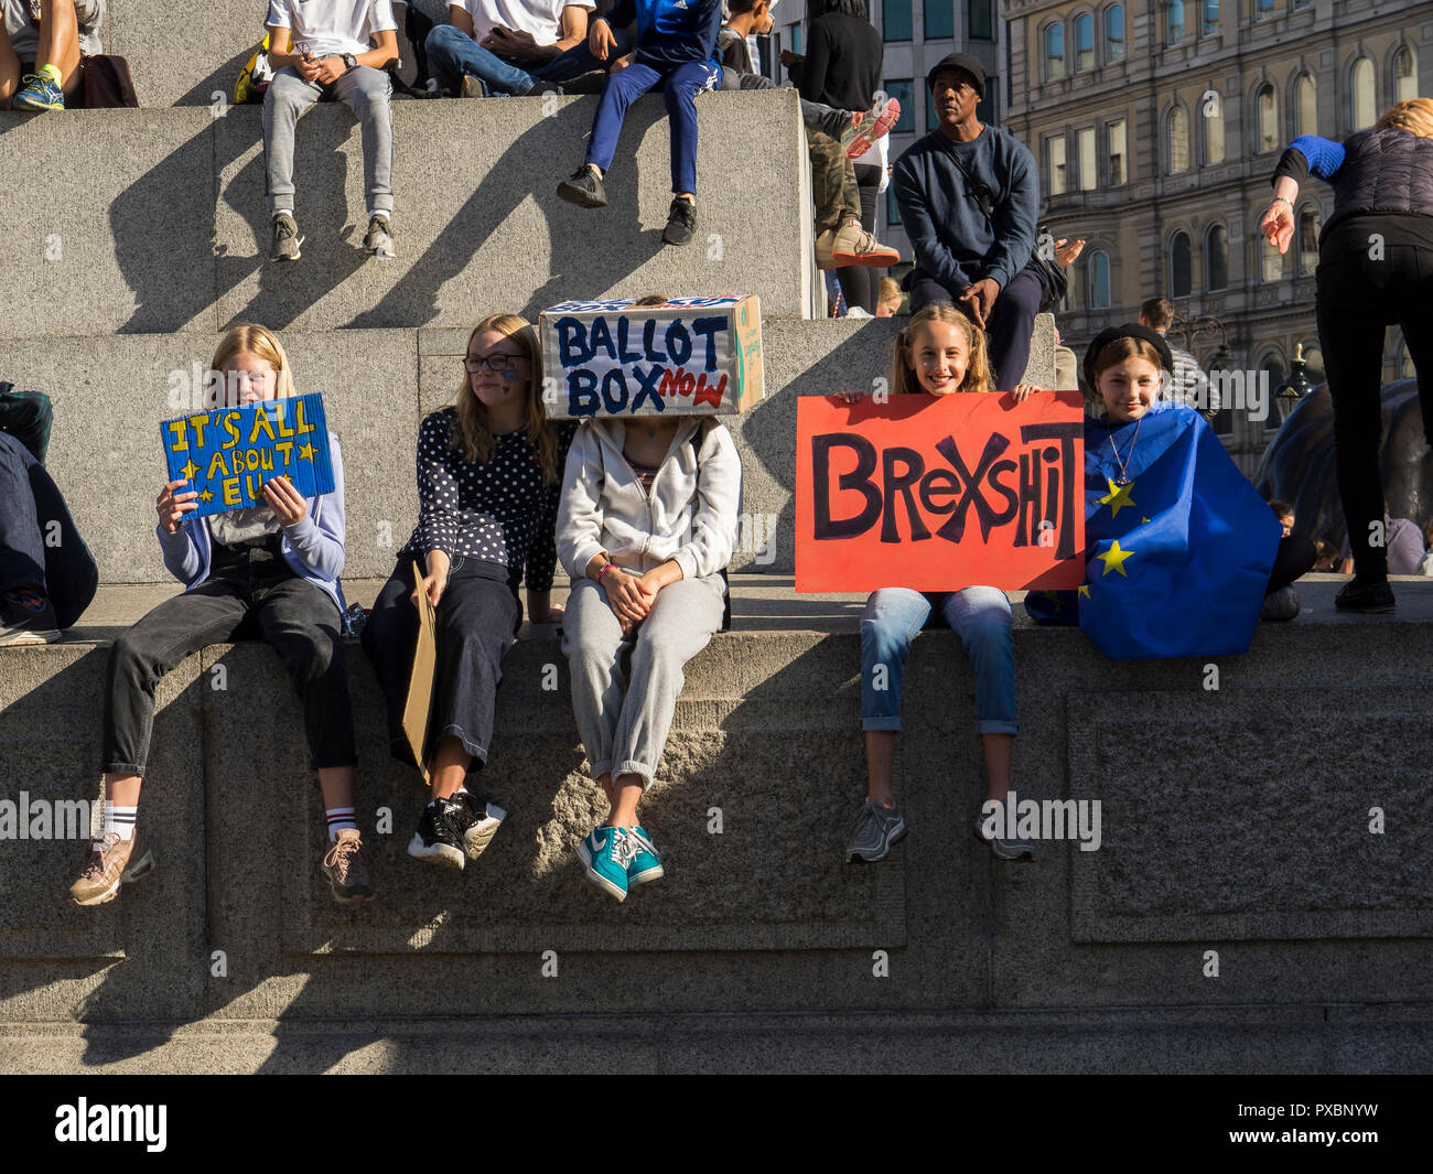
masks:
<svg viewBox="0 0 1433 1174"><path fill-rule="evenodd" d="M272 216L294 206L294 126L322 96L318 82L305 82L291 66L274 75L264 96L264 158L268 165L268 206ZM381 69L357 66L337 82L334 96L363 128L363 182L368 215L393 211L393 82Z"/></svg>

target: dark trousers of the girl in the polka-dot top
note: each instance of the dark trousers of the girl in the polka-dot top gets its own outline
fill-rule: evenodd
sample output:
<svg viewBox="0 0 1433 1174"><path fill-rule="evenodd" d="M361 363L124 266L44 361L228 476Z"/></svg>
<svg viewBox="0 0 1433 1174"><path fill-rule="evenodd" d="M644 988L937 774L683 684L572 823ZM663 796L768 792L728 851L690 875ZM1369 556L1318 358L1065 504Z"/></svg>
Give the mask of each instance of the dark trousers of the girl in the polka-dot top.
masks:
<svg viewBox="0 0 1433 1174"><path fill-rule="evenodd" d="M410 598L413 585L411 559L400 558L363 629L363 649L387 704L388 753L408 765L416 765L403 732L403 707L408 700L418 641L418 609ZM438 741L451 735L473 755L473 765L481 767L493 741L503 654L523 622L523 609L507 583L506 568L454 558L436 619L437 669L424 758L431 761Z"/></svg>

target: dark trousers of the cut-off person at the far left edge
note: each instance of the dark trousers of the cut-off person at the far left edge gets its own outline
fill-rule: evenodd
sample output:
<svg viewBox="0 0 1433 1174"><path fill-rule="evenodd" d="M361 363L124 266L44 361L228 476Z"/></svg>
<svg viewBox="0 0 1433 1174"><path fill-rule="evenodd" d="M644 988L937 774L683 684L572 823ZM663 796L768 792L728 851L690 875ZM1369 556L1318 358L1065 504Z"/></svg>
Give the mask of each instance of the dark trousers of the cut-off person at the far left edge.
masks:
<svg viewBox="0 0 1433 1174"><path fill-rule="evenodd" d="M69 628L95 598L99 568L44 466L0 431L0 592L26 583L43 588Z"/></svg>

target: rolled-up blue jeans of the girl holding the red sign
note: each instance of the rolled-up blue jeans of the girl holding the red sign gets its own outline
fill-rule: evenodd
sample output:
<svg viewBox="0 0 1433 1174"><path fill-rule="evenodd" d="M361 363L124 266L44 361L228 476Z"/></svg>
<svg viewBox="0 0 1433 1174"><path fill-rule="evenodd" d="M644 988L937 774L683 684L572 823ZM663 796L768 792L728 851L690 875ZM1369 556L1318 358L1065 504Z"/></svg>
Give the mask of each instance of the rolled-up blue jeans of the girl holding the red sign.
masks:
<svg viewBox="0 0 1433 1174"><path fill-rule="evenodd" d="M1003 591L983 586L924 593L910 588L871 592L861 615L861 728L901 728L906 658L931 608L960 636L974 667L976 730L982 734L1016 732L1010 601Z"/></svg>

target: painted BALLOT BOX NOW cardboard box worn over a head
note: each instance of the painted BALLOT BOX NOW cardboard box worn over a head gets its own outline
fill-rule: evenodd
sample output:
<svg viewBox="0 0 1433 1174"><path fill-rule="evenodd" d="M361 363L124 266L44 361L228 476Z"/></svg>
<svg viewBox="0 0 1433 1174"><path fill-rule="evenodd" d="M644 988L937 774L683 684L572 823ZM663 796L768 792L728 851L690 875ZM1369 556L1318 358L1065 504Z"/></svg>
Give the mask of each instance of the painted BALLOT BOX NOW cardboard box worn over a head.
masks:
<svg viewBox="0 0 1433 1174"><path fill-rule="evenodd" d="M755 295L565 301L537 325L556 420L735 416L765 396Z"/></svg>

